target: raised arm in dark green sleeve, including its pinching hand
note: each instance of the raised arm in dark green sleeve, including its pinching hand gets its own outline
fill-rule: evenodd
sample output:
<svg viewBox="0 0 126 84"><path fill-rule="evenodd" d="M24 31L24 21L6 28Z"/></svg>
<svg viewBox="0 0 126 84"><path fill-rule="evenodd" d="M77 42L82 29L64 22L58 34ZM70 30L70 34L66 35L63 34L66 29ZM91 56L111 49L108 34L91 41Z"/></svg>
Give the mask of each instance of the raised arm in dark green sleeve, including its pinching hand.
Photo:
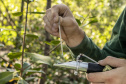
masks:
<svg viewBox="0 0 126 84"><path fill-rule="evenodd" d="M119 30L125 29L124 23L123 24L121 23L121 21L123 21L122 18L124 14L125 11L122 13L122 15L120 16L119 20L117 21L114 27L114 30L117 30L116 32L117 35L114 35L112 37L114 38L114 40L108 42L102 50L99 49L93 43L93 41L90 38L88 38L86 34L84 34L84 32L79 28L75 18L73 17L71 11L66 5L63 4L55 5L52 8L48 9L43 19L45 22L45 30L48 31L50 34L59 37L58 22L60 18L62 38L66 42L66 44L70 47L75 56L77 56L80 53L84 53L87 56L90 56L91 58L98 61L99 59L103 59L109 55L120 56L123 58L126 57L125 56L126 54L120 47L119 44L120 41L118 39L119 35L122 34L119 33ZM123 31L123 34L125 36L126 32ZM118 37L115 38L115 36ZM123 41L123 43L126 42Z"/></svg>

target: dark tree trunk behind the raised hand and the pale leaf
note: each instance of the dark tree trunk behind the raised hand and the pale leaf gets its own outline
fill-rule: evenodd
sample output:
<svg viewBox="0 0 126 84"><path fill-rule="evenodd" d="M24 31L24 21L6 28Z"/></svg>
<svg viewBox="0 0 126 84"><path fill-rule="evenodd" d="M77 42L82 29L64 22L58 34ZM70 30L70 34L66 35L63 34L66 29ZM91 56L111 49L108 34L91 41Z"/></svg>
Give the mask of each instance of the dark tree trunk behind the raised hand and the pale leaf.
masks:
<svg viewBox="0 0 126 84"><path fill-rule="evenodd" d="M51 7L51 0L47 0L47 6L46 9L49 9ZM51 41L50 39L50 34L48 32L45 31L45 40L46 41ZM48 56L48 52L50 50L50 46L45 44L45 49L44 49L44 55ZM46 73L48 69L48 66L43 64L42 65L42 70ZM40 84L45 84L45 81L47 79L46 74L41 74L41 80L40 80Z"/></svg>

